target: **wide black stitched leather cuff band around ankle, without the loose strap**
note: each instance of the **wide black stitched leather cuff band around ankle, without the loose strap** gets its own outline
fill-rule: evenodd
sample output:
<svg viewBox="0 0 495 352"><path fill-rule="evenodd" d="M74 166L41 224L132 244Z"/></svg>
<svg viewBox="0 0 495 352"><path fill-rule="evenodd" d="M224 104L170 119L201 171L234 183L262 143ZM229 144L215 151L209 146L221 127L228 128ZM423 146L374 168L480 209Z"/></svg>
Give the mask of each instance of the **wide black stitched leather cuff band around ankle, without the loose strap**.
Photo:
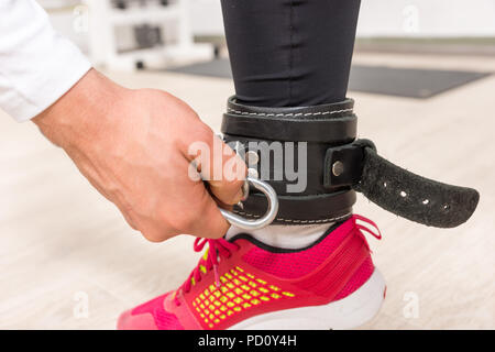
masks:
<svg viewBox="0 0 495 352"><path fill-rule="evenodd" d="M233 142L231 146L239 148L235 144L240 143L257 153L260 162L250 167L278 195L275 223L327 223L352 213L354 190L348 183L326 185L323 161L329 147L350 145L355 140L353 106L354 101L346 99L315 107L260 108L241 105L234 97L229 99L222 132L227 142ZM294 170L306 172L304 189L290 189L297 182L287 174L287 162L294 162ZM234 212L253 219L263 216L266 207L266 199L254 193L243 202L243 209L234 208Z"/></svg>

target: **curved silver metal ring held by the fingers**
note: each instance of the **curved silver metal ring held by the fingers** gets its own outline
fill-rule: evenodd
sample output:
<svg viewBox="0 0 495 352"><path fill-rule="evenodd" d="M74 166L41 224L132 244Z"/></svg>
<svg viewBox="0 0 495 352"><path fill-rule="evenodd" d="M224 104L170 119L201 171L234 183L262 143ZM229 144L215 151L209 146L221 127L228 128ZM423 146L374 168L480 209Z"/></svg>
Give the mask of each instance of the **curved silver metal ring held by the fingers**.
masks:
<svg viewBox="0 0 495 352"><path fill-rule="evenodd" d="M243 217L237 216L226 209L220 209L220 212L222 213L223 218L227 219L231 224L244 229L244 230L258 230L266 228L268 224L271 224L277 213L278 213L278 198L275 189L273 189L272 186L270 186L267 183L262 182L257 178L246 177L245 179L246 185L252 185L257 190L262 191L266 199L268 200L268 209L266 210L266 213L256 220L248 220ZM248 187L249 188L249 187Z"/></svg>

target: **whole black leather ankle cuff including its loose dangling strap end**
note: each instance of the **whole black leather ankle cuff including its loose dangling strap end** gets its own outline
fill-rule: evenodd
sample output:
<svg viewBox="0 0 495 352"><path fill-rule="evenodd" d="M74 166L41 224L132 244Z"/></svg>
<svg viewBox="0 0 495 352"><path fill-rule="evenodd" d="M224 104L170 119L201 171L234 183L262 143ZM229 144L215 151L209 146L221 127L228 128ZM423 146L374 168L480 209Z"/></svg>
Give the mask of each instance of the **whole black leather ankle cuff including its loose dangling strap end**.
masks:
<svg viewBox="0 0 495 352"><path fill-rule="evenodd" d="M275 223L342 220L352 212L354 190L393 213L427 226L451 228L471 217L480 198L476 190L427 179L385 161L371 141L355 140L356 117L352 109L351 99L297 108L248 107L235 98L229 99L222 122L224 140L270 162L268 169L263 169L262 162L250 167L278 195ZM294 146L292 153L289 146ZM280 162L277 157L284 164L282 173L275 167ZM300 163L302 157L306 165ZM306 170L307 185L302 190L289 190L294 175L287 172L285 163ZM243 209L234 211L257 218L265 213L266 206L264 197L253 194Z"/></svg>

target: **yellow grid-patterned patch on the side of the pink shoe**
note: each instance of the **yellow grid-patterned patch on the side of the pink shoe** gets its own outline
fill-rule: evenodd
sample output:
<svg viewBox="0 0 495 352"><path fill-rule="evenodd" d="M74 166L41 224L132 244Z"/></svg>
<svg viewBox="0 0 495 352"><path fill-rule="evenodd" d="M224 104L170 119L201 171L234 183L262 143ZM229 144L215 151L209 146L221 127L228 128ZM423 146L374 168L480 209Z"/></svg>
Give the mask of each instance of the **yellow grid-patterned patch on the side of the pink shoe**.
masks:
<svg viewBox="0 0 495 352"><path fill-rule="evenodd" d="M201 266L200 270L204 271ZM295 297L293 293L282 292L276 285L255 277L240 266L221 275L220 283L220 287L211 284L193 299L193 311L210 329L243 310L275 299Z"/></svg>

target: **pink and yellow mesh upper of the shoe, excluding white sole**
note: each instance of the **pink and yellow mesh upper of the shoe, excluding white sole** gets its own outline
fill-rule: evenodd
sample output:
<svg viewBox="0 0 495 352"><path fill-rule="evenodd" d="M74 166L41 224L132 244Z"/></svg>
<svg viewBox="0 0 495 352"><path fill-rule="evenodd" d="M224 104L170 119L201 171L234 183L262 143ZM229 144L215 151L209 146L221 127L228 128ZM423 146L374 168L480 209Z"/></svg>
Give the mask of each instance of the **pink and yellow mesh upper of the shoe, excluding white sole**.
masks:
<svg viewBox="0 0 495 352"><path fill-rule="evenodd" d="M301 250L267 246L246 234L216 240L210 251L217 256L206 252L183 286L125 312L119 328L150 329L146 316L162 330L223 330L271 311L342 299L374 271L356 224L363 219L353 216Z"/></svg>

